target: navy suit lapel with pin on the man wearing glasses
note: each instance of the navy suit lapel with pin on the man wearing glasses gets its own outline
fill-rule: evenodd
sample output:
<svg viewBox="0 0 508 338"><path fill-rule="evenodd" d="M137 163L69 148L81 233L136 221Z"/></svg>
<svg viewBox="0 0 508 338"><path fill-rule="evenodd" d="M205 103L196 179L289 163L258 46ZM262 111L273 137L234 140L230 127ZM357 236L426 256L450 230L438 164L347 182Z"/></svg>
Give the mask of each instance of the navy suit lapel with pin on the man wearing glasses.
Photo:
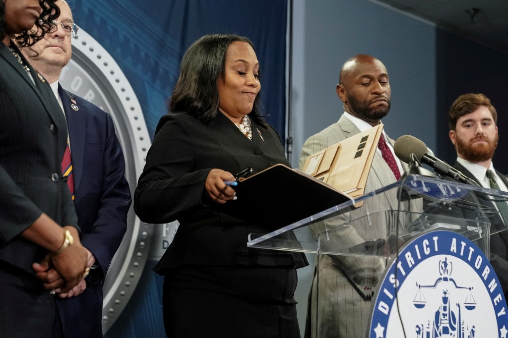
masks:
<svg viewBox="0 0 508 338"><path fill-rule="evenodd" d="M75 95L58 84L58 95L62 100L63 111L67 117L69 140L71 141L72 172L74 175L74 191L78 190L83 174L83 162L86 141L86 114L72 100ZM73 109L72 105L78 110Z"/></svg>

